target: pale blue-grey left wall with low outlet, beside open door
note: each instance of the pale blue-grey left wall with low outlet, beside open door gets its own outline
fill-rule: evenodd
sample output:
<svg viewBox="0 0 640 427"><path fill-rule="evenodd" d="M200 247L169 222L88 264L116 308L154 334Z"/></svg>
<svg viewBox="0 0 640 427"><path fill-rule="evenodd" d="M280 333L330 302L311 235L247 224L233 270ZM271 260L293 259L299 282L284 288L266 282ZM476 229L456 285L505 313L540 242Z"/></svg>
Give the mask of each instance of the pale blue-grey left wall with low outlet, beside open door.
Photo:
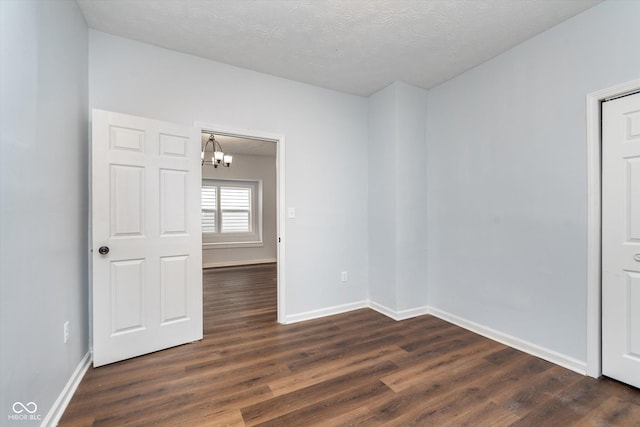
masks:
<svg viewBox="0 0 640 427"><path fill-rule="evenodd" d="M36 403L34 415L44 419L89 348L88 30L70 1L3 0L0 19L0 424L6 425L16 401Z"/></svg>

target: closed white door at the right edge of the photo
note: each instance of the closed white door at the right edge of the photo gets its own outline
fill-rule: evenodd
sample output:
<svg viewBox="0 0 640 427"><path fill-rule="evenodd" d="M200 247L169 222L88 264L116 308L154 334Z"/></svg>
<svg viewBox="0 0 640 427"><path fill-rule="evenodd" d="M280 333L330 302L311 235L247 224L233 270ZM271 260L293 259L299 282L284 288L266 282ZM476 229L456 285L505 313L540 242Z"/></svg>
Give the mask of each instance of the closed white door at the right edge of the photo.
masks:
<svg viewBox="0 0 640 427"><path fill-rule="evenodd" d="M640 387L640 94L602 106L602 371Z"/></svg>

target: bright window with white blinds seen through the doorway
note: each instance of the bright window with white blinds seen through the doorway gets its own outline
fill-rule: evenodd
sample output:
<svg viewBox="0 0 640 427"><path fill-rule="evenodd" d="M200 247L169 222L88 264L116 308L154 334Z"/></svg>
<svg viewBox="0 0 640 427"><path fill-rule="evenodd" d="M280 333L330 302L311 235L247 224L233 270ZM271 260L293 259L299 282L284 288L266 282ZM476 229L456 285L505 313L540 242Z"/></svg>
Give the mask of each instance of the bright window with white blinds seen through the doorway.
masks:
<svg viewBox="0 0 640 427"><path fill-rule="evenodd" d="M262 245L260 181L202 180L203 244Z"/></svg>

